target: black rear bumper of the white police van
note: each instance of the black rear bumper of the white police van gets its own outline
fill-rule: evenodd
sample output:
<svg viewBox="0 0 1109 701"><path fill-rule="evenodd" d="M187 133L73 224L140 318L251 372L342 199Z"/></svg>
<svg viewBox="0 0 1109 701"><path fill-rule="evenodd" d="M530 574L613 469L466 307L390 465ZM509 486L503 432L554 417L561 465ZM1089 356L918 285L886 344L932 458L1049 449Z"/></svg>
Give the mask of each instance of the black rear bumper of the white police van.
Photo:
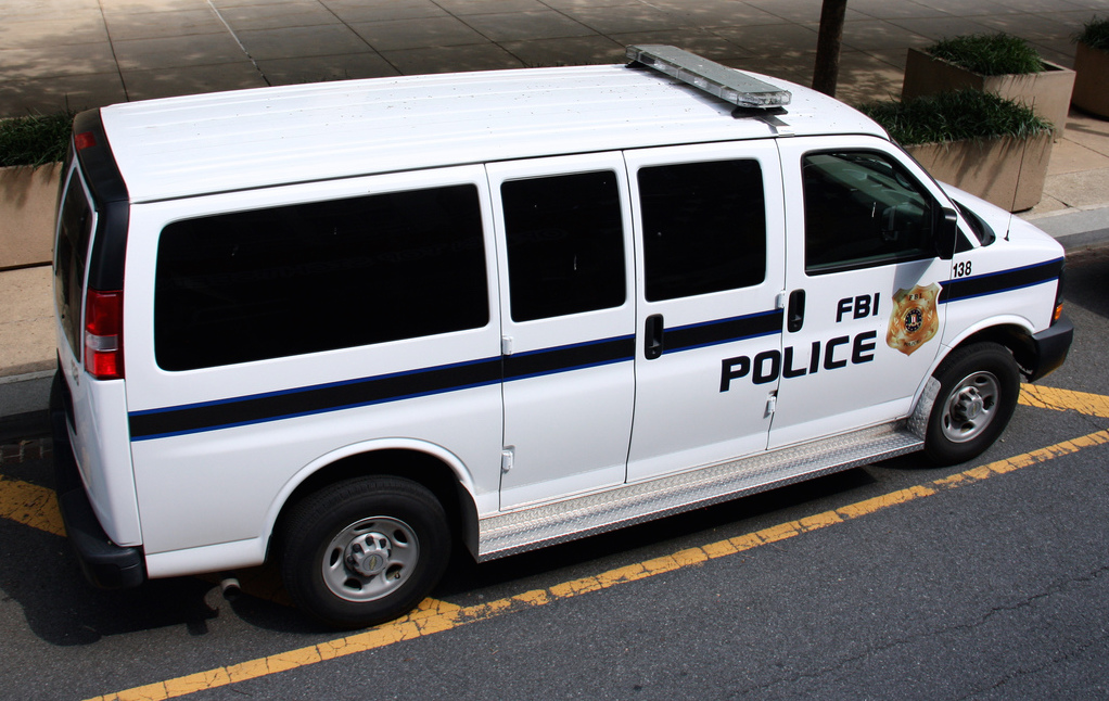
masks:
<svg viewBox="0 0 1109 701"><path fill-rule="evenodd" d="M58 506L65 534L90 582L103 589L138 587L146 580L142 548L121 547L108 538L81 482L67 428L64 382L61 375L54 376L50 390L50 427L54 441Z"/></svg>

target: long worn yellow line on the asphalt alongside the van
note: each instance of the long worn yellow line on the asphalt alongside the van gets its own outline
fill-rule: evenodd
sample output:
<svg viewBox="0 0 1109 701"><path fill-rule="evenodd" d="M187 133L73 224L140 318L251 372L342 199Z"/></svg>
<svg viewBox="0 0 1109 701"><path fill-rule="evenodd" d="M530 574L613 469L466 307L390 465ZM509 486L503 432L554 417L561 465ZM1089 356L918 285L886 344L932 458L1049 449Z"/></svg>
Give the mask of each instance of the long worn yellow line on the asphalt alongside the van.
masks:
<svg viewBox="0 0 1109 701"><path fill-rule="evenodd" d="M413 640L423 636L451 630L475 621L488 620L511 611L546 606L559 599L569 599L617 585L648 579L715 558L751 550L763 545L780 542L802 534L861 518L901 504L907 504L915 499L929 497L949 489L957 489L996 475L1004 475L1030 465L1072 455L1083 448L1106 444L1109 444L1109 430L1101 430L1082 436L1081 438L1058 443L1047 448L975 467L964 473L952 475L950 477L858 501L815 516L780 524L706 546L681 550L664 557L601 572L592 577L562 582L548 589L527 591L489 603L464 608L446 601L428 599L424 601L420 608L407 617L366 632L238 664L160 681L145 687L135 687L118 693L96 697L96 699L90 701L162 701L308 664L316 664L348 654L357 654L367 650L384 648L404 640Z"/></svg>

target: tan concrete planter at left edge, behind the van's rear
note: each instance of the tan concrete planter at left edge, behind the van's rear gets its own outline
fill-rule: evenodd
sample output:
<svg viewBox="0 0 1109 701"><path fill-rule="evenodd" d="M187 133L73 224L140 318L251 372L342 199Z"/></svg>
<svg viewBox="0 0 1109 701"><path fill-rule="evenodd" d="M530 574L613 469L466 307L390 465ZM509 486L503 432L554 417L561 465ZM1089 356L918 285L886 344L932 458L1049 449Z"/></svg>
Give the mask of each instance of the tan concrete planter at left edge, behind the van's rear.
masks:
<svg viewBox="0 0 1109 701"><path fill-rule="evenodd" d="M53 258L61 163L0 167L0 270Z"/></svg>

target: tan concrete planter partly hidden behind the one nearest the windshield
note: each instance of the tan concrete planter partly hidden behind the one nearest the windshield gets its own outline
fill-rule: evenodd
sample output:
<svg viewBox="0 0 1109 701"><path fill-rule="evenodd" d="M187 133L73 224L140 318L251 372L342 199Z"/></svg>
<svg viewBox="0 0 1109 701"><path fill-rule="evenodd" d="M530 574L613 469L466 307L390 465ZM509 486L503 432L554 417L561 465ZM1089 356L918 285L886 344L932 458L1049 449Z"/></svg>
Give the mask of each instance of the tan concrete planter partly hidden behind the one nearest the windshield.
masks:
<svg viewBox="0 0 1109 701"><path fill-rule="evenodd" d="M974 89L991 92L1032 109L1055 125L1055 138L1062 138L1070 110L1070 93L1075 71L1044 61L1047 70L1039 73L980 75L965 68L934 59L919 49L909 49L905 63L902 99L930 95L946 90Z"/></svg>

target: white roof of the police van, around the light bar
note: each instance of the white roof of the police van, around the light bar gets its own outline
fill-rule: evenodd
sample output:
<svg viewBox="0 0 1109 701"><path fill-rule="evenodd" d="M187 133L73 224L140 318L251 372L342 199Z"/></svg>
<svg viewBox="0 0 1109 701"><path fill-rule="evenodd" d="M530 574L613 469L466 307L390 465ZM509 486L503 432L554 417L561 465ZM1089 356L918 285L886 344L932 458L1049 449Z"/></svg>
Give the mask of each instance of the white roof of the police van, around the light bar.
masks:
<svg viewBox="0 0 1109 701"><path fill-rule="evenodd" d="M801 85L797 135L884 130ZM116 104L101 110L132 202L424 167L759 139L760 119L623 65L377 78Z"/></svg>

